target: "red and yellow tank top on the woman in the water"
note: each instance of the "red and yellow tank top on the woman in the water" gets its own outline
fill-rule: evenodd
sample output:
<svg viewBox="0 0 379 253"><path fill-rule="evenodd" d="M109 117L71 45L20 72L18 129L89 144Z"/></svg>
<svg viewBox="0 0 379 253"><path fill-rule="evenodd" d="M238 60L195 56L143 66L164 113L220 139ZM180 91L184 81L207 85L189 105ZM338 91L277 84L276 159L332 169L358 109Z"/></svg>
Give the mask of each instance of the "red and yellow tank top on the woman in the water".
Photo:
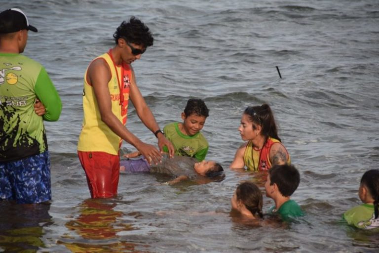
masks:
<svg viewBox="0 0 379 253"><path fill-rule="evenodd" d="M277 139L268 137L263 148L260 150L256 150L253 147L253 142L249 141L247 143L245 153L243 155L243 161L247 169L250 169L250 170L270 169L272 166L269 159L270 149L271 149L271 146L276 142L280 142L280 141ZM291 159L290 159L289 154L288 154L287 163L291 164Z"/></svg>

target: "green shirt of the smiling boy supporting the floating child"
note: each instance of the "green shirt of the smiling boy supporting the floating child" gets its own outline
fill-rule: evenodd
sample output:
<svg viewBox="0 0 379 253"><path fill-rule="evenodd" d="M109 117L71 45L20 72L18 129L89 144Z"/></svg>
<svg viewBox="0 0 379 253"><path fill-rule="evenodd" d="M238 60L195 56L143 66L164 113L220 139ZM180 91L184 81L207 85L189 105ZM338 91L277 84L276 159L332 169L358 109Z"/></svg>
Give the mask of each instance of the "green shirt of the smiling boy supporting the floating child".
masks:
<svg viewBox="0 0 379 253"><path fill-rule="evenodd" d="M168 124L163 128L164 135L171 141L178 156L194 157L197 161L203 161L208 152L208 141L201 132L192 136L183 134L179 130L178 122ZM168 152L167 148L164 149Z"/></svg>

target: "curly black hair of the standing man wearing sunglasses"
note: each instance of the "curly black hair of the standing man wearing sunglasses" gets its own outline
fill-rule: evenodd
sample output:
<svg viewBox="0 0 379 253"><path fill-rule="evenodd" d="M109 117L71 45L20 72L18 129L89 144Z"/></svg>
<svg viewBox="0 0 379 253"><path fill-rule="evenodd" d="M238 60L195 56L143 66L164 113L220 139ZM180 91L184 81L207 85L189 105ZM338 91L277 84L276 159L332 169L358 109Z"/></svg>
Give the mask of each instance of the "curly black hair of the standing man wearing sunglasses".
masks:
<svg viewBox="0 0 379 253"><path fill-rule="evenodd" d="M136 17L131 17L129 22L123 21L114 32L113 38L118 44L118 39L122 38L127 42L141 45L143 47L152 46L154 39L144 23Z"/></svg>

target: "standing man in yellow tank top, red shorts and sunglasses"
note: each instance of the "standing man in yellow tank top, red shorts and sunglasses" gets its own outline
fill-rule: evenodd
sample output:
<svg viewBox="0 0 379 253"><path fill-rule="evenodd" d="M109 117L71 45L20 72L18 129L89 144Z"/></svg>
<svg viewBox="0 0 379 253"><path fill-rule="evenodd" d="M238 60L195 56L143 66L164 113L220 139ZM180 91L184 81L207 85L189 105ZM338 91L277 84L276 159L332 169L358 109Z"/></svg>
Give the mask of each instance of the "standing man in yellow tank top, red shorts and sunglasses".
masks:
<svg viewBox="0 0 379 253"><path fill-rule="evenodd" d="M131 64L141 58L153 38L149 28L139 19L123 21L114 33L115 45L95 58L84 74L84 119L77 145L80 163L85 171L92 198L108 198L117 194L119 178L118 152L122 140L133 145L151 163L161 161L161 153L153 145L142 142L126 125L129 98L138 117L158 139L169 155L174 147L166 139L136 84Z"/></svg>

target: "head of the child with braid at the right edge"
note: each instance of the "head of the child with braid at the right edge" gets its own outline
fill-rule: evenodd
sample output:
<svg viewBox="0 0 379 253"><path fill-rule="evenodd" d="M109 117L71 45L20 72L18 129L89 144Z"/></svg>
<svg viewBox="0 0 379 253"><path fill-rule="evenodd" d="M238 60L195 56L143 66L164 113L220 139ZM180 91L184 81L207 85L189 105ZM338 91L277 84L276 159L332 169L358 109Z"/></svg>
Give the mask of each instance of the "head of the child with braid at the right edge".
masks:
<svg viewBox="0 0 379 253"><path fill-rule="evenodd" d="M374 204L375 218L379 216L379 169L367 170L362 178L359 186L359 198L363 203Z"/></svg>

